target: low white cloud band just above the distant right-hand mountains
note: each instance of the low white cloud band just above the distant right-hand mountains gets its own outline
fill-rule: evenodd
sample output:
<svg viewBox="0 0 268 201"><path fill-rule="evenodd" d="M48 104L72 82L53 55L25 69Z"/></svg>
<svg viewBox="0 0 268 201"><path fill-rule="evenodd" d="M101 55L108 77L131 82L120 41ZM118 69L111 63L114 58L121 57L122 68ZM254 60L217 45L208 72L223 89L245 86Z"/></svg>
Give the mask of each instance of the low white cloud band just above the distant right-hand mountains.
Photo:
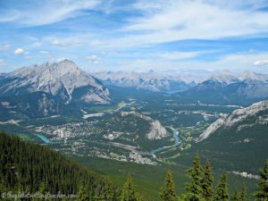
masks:
<svg viewBox="0 0 268 201"><path fill-rule="evenodd" d="M255 66L255 61L264 61L268 57L268 52L263 53L240 53L226 54L215 61L200 60L163 60L162 57L147 57L147 59L124 60L117 63L116 67L120 70L141 70L155 71L176 70L176 71L256 71L267 74L267 69L263 66Z"/></svg>

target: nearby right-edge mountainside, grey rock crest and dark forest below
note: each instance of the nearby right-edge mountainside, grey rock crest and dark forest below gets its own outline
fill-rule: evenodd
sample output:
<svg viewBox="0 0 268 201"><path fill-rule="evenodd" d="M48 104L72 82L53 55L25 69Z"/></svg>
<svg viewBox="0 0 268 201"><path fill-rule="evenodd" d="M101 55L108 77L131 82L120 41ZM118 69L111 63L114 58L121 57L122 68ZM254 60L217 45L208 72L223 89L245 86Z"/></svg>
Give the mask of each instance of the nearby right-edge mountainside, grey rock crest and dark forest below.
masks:
<svg viewBox="0 0 268 201"><path fill-rule="evenodd" d="M267 117L267 100L235 110L211 124L190 153L199 152L230 172L256 174L268 153Z"/></svg>

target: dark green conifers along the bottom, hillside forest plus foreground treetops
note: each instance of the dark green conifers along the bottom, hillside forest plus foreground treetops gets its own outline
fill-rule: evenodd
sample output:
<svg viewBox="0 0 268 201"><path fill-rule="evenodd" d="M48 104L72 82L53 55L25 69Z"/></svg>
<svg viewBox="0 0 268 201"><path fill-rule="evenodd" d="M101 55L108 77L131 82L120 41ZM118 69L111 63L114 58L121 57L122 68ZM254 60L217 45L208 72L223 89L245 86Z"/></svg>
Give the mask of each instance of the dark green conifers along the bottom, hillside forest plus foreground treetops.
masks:
<svg viewBox="0 0 268 201"><path fill-rule="evenodd" d="M14 194L47 193L56 195L75 195L73 198L60 200L78 201L147 201L136 190L135 181L130 174L122 188L114 187L110 180L67 157L37 144L22 141L20 138L0 133L0 193ZM199 155L193 160L188 169L188 183L183 194L175 192L172 172L167 172L163 188L159 189L161 201L247 201L247 187L241 183L237 189L228 189L226 172L222 172L220 180L214 186L214 173L209 160L204 166L200 163ZM256 201L268 200L268 160L264 169L260 170L259 184L255 194ZM46 200L58 200L47 198ZM44 198L23 198L19 200L45 200Z"/></svg>

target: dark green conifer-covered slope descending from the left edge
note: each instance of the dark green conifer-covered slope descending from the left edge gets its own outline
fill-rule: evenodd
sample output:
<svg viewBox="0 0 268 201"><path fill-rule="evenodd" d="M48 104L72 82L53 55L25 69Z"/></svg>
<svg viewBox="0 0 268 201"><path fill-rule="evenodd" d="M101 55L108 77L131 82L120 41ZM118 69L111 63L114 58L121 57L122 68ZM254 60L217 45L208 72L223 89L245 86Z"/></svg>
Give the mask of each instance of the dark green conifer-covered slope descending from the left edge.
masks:
<svg viewBox="0 0 268 201"><path fill-rule="evenodd" d="M45 184L50 194L59 191L64 195L77 194L80 181L84 183L88 197L105 197L108 192L116 192L104 176L47 147L21 141L3 132L0 133L0 158L2 192L36 193Z"/></svg>

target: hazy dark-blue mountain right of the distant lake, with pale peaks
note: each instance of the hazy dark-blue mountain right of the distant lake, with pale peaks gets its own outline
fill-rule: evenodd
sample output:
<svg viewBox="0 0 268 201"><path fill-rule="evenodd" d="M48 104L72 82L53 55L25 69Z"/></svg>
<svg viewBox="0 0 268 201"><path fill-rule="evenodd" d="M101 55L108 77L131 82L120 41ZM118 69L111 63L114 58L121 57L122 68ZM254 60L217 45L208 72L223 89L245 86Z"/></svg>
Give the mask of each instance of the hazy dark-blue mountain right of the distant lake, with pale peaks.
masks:
<svg viewBox="0 0 268 201"><path fill-rule="evenodd" d="M268 98L268 75L223 72L177 93L177 96L207 104L250 105Z"/></svg>

